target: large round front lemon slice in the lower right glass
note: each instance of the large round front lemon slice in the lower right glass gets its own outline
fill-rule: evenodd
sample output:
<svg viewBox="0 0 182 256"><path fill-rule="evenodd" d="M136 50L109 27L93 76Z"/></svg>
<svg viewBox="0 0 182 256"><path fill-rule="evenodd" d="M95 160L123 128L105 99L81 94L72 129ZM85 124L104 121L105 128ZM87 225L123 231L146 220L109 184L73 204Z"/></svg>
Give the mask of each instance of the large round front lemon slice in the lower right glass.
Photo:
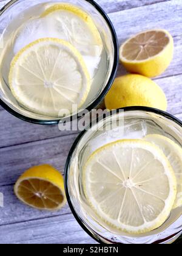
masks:
<svg viewBox="0 0 182 256"><path fill-rule="evenodd" d="M84 191L98 216L127 233L160 227L175 201L177 182L163 152L143 140L107 144L89 158Z"/></svg>

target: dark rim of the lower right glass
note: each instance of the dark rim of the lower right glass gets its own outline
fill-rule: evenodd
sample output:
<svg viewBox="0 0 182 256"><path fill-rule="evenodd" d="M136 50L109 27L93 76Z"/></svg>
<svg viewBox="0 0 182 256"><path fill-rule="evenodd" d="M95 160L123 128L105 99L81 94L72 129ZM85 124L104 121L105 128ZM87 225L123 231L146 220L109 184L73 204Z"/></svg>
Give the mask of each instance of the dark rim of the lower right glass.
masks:
<svg viewBox="0 0 182 256"><path fill-rule="evenodd" d="M167 119L170 119L172 121L174 121L175 123L177 123L179 126L182 127L182 121L178 118L176 118L174 115L164 112L163 110L159 110L157 108L151 108L151 107L140 107L140 106L133 106L133 107L123 107L123 108L118 108L116 110L116 112L114 113L115 115L117 113L120 113L120 110L124 110L124 112L131 112L131 111L145 111L145 112L150 112L150 113L155 113L157 115L163 116ZM111 116L112 112L108 112L108 114L106 114L106 117L104 119L107 118L107 116ZM99 121L101 121L99 118L96 119L96 122L93 124L98 124ZM92 123L90 123L90 128L92 127ZM69 165L70 162L72 160L72 156L73 153L75 152L76 147L79 144L79 141L84 137L84 135L88 132L88 130L83 130L83 132L81 132L78 137L76 138L76 140L74 141L72 148L69 151L67 160L66 160L66 165L64 168L64 187L65 187L65 191L66 191L66 197L67 197L67 202L69 204L70 210L73 214L73 216L75 217L76 221L78 222L79 226L82 227L82 229L89 235L91 236L91 238L93 238L93 240L95 240L96 242L100 243L100 244L104 244L103 240L101 240L98 236L96 236L94 233L92 233L90 231L90 229L87 229L86 225L84 224L83 220L80 218L80 216L78 215L78 213L76 213L75 208L73 207L72 201L70 199L70 193L69 193L69 184L68 184L68 177L69 177ZM105 238L103 238L105 239ZM113 243L114 244L114 243Z"/></svg>

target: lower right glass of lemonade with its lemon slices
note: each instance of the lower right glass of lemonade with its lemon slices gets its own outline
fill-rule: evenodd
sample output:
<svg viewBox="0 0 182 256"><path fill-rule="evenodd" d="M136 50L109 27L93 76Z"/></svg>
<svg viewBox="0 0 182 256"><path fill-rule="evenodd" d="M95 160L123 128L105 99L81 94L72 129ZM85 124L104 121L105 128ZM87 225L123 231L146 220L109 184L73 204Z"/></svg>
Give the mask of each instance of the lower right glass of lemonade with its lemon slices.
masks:
<svg viewBox="0 0 182 256"><path fill-rule="evenodd" d="M182 233L182 123L147 107L108 113L66 163L70 208L99 243L173 243ZM168 169L168 171L167 171Z"/></svg>

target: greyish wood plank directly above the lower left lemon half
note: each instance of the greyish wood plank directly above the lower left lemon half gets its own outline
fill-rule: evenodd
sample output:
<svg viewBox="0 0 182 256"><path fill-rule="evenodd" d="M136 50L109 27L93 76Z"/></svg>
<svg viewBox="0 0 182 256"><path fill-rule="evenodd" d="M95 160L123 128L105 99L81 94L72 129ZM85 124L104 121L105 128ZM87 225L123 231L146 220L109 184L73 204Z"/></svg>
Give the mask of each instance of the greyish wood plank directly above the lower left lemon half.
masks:
<svg viewBox="0 0 182 256"><path fill-rule="evenodd" d="M0 186L15 183L26 169L48 163L64 171L67 154L77 135L0 149Z"/></svg>

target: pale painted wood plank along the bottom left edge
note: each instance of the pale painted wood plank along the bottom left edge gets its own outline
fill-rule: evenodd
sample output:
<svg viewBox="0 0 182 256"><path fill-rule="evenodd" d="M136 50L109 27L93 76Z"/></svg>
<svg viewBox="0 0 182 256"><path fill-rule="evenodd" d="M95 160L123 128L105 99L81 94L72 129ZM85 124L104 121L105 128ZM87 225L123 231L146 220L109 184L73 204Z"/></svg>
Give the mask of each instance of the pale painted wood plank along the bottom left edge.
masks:
<svg viewBox="0 0 182 256"><path fill-rule="evenodd" d="M96 243L72 215L0 226L1 244L87 244Z"/></svg>

